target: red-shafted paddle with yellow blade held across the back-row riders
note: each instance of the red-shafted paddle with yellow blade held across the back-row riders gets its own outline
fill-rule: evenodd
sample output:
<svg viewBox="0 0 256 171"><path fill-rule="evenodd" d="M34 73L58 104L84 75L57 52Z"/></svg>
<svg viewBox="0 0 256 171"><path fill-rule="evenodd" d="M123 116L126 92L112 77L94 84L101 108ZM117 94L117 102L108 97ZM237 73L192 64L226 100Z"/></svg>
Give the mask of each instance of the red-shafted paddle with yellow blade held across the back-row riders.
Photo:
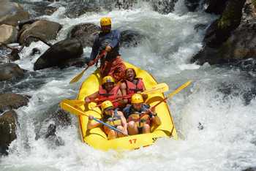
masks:
<svg viewBox="0 0 256 171"><path fill-rule="evenodd" d="M164 93L165 91L169 90L169 86L166 83L159 83L156 86L153 86L151 88L148 88L147 90L143 91L141 94L157 94L157 93ZM102 99L96 99L92 102L103 102L105 100L110 100L111 102L114 100L116 102L116 100L119 99L126 99L126 98L130 98L132 95L126 95L126 96L118 96L115 98L102 98ZM83 100L72 100L73 104L84 104L85 102Z"/></svg>

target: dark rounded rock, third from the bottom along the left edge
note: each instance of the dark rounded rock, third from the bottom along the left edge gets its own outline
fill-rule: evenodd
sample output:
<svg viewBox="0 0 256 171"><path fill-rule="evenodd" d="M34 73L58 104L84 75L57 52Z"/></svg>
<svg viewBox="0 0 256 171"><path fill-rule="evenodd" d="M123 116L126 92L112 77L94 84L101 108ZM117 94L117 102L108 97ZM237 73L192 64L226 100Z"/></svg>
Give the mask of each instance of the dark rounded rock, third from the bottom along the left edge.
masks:
<svg viewBox="0 0 256 171"><path fill-rule="evenodd" d="M24 70L18 64L0 64L0 81L15 80L24 76Z"/></svg>

